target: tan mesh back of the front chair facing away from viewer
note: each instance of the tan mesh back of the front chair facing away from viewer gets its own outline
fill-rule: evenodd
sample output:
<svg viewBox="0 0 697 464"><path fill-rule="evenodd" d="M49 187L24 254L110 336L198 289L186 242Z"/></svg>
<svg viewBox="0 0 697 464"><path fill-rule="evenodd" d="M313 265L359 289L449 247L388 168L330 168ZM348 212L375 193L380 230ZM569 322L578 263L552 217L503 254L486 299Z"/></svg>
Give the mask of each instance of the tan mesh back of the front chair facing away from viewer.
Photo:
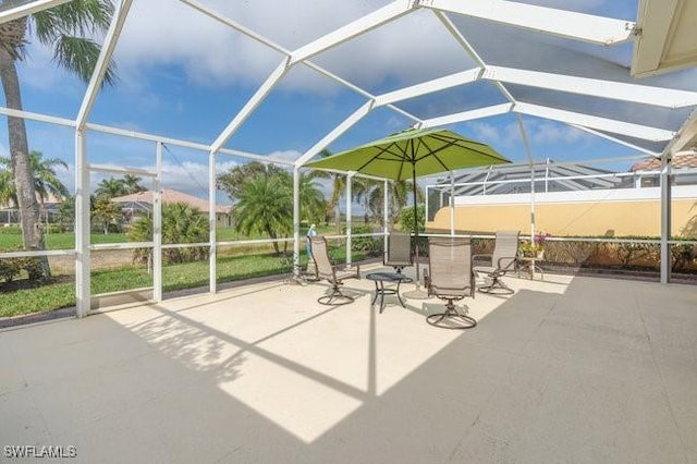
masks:
<svg viewBox="0 0 697 464"><path fill-rule="evenodd" d="M429 293L468 296L474 294L472 245L467 239L433 239L428 243Z"/></svg>

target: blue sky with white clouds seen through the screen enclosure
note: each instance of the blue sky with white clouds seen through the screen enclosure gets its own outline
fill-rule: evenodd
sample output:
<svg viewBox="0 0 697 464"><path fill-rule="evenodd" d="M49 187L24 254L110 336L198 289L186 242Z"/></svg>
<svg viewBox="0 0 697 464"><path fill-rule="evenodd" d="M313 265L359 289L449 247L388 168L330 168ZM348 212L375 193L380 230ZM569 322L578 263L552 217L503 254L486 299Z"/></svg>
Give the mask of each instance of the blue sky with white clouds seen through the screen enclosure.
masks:
<svg viewBox="0 0 697 464"><path fill-rule="evenodd" d="M235 19L266 37L294 49L381 5L386 0L320 0L288 2L265 0L209 0L206 4ZM538 0L527 3L564 8L634 21L637 0ZM269 14L272 12L272 14ZM430 12L418 12L376 29L353 42L332 49L314 61L326 69L380 94L473 68ZM405 30L408 30L405 34ZM474 30L473 30L474 34ZM529 34L529 33L528 33ZM476 40L476 34L473 39ZM479 38L485 40L486 37ZM545 42L540 42L545 46ZM628 65L631 47L591 50L576 46L578 53L600 53L608 62ZM35 40L20 66L24 106L27 111L74 119L86 85L58 70L51 51ZM517 50L499 51L516 58ZM452 59L443 59L444 57ZM496 56L492 54L492 57ZM580 54L579 54L580 56ZM105 87L89 122L209 144L280 62L281 54L170 0L135 1L119 41L115 60L119 81ZM529 60L536 57L530 56ZM676 86L697 81L688 71ZM423 117L496 103L500 95L487 83L477 91L456 90L414 99L404 109ZM481 100L481 101L477 101ZM227 147L258 155L297 158L320 141L365 99L305 66L294 68L281 84L228 142ZM445 111L448 112L448 111ZM536 159L582 160L628 156L636 151L564 124L525 118L530 148ZM369 114L329 148L340 151L406 129L403 115L381 109ZM70 129L29 122L30 149L61 157L70 169L60 175L74 185L74 141ZM525 160L525 148L513 114L450 126L463 135L491 144L514 160ZM101 164L152 168L155 146L123 137L88 135L89 161ZM0 126L0 150L7 154L7 129ZM207 154L168 147L164 152L164 186L205 196L208 186ZM240 159L221 156L220 171ZM94 174L93 184L110 174ZM223 200L223 197L220 198Z"/></svg>

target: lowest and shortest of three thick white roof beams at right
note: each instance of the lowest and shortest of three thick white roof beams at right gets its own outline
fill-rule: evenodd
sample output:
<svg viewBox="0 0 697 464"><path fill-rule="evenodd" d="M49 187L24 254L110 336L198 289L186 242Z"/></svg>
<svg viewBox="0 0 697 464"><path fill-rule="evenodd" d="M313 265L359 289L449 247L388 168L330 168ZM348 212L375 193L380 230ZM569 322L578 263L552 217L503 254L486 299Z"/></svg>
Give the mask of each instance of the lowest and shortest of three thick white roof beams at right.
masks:
<svg viewBox="0 0 697 464"><path fill-rule="evenodd" d="M577 124L586 127L608 131L615 134L628 135L652 142L670 141L675 136L672 131L650 127L648 125L633 124L624 121L616 121L608 118L594 117L589 114L576 113L573 111L559 110L557 108L543 107L540 105L518 102L513 107L513 112L534 115L538 118L552 119L566 124Z"/></svg>

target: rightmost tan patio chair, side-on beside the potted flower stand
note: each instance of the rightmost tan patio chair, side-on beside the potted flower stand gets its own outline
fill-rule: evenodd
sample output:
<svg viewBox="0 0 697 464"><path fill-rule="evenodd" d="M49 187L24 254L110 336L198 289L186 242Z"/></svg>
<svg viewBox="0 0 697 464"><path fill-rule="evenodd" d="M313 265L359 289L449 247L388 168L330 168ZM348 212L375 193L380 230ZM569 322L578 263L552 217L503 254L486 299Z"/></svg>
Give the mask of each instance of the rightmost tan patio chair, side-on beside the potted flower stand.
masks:
<svg viewBox="0 0 697 464"><path fill-rule="evenodd" d="M485 284L478 289L480 292L492 294L513 293L513 289L506 285L501 278L515 270L519 235L521 231L497 231L493 254L473 256L475 273L477 277L485 274ZM489 266L478 266L476 261L479 258L490 260Z"/></svg>

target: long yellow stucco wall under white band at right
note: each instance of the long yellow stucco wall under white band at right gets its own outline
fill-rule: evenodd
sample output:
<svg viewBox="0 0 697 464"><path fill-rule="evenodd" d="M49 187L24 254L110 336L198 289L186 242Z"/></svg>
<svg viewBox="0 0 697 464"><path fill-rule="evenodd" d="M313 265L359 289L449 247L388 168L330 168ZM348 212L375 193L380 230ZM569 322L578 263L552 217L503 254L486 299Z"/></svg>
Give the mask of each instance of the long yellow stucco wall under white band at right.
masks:
<svg viewBox="0 0 697 464"><path fill-rule="evenodd" d="M673 235L697 236L697 200L672 203ZM606 203L537 204L536 230L557 236L570 235L646 235L660 236L661 212L658 200ZM450 230L450 208L441 208L429 230ZM530 231L530 205L468 205L455 208L455 230L493 233L497 230Z"/></svg>

